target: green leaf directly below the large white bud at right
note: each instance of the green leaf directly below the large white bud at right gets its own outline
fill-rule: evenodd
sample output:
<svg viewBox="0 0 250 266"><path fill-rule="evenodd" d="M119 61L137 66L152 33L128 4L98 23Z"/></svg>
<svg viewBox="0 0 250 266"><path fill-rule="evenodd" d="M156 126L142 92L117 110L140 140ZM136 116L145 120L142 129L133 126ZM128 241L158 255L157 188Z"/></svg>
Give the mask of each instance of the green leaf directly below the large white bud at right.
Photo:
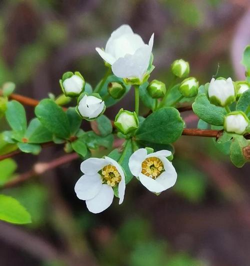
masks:
<svg viewBox="0 0 250 266"><path fill-rule="evenodd" d="M205 94L200 94L195 98L192 109L203 121L209 124L223 125L225 108L211 104Z"/></svg>

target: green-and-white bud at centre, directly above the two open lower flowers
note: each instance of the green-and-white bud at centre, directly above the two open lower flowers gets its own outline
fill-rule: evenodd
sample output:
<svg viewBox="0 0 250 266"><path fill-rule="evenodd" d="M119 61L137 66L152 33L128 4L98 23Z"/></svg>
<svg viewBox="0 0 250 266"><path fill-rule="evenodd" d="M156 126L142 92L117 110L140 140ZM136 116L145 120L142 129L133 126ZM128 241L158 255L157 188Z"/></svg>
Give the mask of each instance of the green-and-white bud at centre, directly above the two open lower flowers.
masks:
<svg viewBox="0 0 250 266"><path fill-rule="evenodd" d="M122 134L127 134L138 127L139 120L135 112L121 108L115 116L114 125Z"/></svg>

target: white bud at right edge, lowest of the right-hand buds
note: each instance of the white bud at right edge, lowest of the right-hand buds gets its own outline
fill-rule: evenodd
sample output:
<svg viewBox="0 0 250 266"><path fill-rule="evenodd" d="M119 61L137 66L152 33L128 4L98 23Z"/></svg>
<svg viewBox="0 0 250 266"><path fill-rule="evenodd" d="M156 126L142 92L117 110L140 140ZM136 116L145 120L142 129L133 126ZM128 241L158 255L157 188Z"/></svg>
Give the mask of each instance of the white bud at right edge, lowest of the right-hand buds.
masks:
<svg viewBox="0 0 250 266"><path fill-rule="evenodd" d="M227 132L243 134L248 124L249 119L242 111L232 111L224 117L224 130Z"/></svg>

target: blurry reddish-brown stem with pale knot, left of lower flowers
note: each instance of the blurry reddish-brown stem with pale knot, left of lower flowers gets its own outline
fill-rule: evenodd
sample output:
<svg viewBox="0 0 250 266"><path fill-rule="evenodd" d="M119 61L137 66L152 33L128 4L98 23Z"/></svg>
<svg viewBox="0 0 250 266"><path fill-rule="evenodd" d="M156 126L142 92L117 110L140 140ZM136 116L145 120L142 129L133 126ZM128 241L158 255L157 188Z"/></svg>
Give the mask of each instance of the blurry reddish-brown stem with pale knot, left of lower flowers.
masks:
<svg viewBox="0 0 250 266"><path fill-rule="evenodd" d="M59 158L51 160L49 162L37 162L33 165L32 169L17 175L15 178L11 179L10 181L6 182L2 188L8 188L12 186L16 186L23 181L30 179L32 176L42 174L50 169L56 168L59 165L67 163L69 161L75 160L79 157L77 153L70 153L63 155Z"/></svg>

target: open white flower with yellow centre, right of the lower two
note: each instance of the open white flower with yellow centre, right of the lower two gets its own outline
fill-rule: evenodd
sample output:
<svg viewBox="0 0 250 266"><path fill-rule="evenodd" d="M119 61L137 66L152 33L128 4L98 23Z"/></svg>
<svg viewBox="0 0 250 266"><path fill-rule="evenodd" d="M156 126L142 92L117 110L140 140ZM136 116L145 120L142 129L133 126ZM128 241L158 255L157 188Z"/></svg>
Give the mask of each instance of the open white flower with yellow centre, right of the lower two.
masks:
<svg viewBox="0 0 250 266"><path fill-rule="evenodd" d="M158 193L175 184L177 173L166 158L169 150L159 150L147 154L145 148L139 148L130 156L128 166L131 173L150 191Z"/></svg>

